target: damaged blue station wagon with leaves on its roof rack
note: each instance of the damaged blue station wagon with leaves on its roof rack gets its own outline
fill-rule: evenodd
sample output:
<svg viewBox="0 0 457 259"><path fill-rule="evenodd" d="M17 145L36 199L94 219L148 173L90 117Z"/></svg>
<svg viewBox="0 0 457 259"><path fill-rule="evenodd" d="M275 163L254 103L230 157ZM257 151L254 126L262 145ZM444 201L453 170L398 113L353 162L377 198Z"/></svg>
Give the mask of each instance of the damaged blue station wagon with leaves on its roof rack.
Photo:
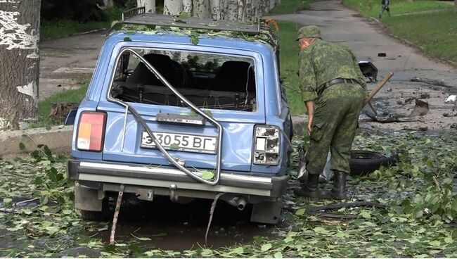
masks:
<svg viewBox="0 0 457 259"><path fill-rule="evenodd" d="M278 222L292 151L278 49L260 24L125 13L75 115L67 176L82 218L102 219L123 191L217 197Z"/></svg>

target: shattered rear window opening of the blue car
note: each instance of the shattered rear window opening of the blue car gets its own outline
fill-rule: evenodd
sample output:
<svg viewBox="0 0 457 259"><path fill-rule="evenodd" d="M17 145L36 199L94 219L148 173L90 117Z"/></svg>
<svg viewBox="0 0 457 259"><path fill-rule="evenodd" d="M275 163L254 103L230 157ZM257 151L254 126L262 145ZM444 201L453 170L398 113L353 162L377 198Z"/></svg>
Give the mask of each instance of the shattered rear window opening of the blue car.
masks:
<svg viewBox="0 0 457 259"><path fill-rule="evenodd" d="M134 51L200 108L256 110L253 58L191 51ZM117 62L110 96L132 103L186 106L130 51Z"/></svg>

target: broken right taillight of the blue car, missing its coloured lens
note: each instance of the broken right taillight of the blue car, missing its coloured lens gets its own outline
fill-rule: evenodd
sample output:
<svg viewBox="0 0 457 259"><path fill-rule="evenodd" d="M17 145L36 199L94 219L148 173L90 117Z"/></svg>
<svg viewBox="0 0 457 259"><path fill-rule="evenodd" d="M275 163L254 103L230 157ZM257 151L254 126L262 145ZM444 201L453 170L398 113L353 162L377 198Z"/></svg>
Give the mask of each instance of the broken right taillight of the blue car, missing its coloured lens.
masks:
<svg viewBox="0 0 457 259"><path fill-rule="evenodd" d="M253 163L256 165L278 165L280 144L278 127L258 125L254 132Z"/></svg>

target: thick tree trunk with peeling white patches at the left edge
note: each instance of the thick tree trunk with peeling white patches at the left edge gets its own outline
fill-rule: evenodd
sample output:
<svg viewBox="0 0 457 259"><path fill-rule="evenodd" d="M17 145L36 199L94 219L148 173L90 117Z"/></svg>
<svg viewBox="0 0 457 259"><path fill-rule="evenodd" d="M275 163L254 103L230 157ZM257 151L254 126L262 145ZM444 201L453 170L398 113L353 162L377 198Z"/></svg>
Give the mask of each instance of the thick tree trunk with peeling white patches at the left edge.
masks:
<svg viewBox="0 0 457 259"><path fill-rule="evenodd" d="M0 1L0 130L37 116L41 0Z"/></svg>

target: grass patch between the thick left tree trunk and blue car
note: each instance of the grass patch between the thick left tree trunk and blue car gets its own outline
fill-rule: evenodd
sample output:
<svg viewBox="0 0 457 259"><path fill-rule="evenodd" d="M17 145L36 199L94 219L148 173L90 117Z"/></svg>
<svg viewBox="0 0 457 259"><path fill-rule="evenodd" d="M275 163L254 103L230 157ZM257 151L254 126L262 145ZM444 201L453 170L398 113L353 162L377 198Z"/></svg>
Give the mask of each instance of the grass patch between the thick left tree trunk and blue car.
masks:
<svg viewBox="0 0 457 259"><path fill-rule="evenodd" d="M49 127L55 125L62 125L65 118L56 119L50 118L52 103L80 103L84 96L86 96L88 82L85 82L75 90L65 90L60 93L53 94L46 99L38 102L38 120L37 122L30 123L30 127Z"/></svg>

